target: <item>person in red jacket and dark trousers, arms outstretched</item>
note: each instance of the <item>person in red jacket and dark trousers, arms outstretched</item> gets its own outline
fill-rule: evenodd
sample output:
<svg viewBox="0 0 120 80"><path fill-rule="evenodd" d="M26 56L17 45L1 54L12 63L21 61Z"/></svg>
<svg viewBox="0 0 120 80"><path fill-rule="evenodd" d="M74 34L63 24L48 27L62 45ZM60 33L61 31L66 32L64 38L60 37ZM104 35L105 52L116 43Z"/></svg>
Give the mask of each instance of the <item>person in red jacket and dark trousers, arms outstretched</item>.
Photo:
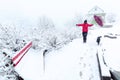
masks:
<svg viewBox="0 0 120 80"><path fill-rule="evenodd" d="M88 27L93 26L93 24L88 24L87 20L85 20L83 24L76 24L76 26L82 27L83 42L86 43L87 34L88 34Z"/></svg>

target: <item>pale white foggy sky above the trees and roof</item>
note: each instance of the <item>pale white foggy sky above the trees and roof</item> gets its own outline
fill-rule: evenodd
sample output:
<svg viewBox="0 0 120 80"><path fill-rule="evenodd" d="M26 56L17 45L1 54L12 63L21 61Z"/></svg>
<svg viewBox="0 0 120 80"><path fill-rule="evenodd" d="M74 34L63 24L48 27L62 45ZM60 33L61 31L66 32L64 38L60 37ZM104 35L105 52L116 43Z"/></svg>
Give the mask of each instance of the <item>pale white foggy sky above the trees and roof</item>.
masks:
<svg viewBox="0 0 120 80"><path fill-rule="evenodd" d="M75 14L87 13L96 5L105 12L119 14L120 11L119 0L0 0L0 18L44 15L67 20Z"/></svg>

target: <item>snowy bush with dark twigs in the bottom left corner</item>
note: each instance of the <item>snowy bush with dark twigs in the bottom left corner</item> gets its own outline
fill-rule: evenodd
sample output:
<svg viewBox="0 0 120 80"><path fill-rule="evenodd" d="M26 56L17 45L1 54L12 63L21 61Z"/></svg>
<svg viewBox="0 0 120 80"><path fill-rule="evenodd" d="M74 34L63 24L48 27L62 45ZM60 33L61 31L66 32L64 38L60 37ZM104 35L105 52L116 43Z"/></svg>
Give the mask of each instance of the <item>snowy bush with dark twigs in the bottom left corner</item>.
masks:
<svg viewBox="0 0 120 80"><path fill-rule="evenodd" d="M2 51L0 54L0 80L23 80L15 71L11 56Z"/></svg>

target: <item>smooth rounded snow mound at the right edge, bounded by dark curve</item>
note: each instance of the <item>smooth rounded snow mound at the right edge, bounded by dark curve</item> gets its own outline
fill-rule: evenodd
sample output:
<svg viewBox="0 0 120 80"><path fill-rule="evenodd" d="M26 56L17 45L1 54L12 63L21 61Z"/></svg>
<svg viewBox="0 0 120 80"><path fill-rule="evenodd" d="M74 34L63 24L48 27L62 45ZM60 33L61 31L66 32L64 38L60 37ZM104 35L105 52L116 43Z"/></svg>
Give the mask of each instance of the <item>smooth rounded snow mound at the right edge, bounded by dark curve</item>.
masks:
<svg viewBox="0 0 120 80"><path fill-rule="evenodd" d="M120 35L116 39L105 38L103 48L104 58L109 68L120 71Z"/></svg>

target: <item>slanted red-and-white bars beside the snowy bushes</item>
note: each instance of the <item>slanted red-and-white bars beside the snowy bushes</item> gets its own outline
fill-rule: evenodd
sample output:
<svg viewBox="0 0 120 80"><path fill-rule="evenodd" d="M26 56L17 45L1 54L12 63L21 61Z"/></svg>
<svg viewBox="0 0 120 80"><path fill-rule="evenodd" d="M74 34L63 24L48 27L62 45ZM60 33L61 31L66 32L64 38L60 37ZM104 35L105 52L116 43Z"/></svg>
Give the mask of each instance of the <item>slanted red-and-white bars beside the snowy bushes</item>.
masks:
<svg viewBox="0 0 120 80"><path fill-rule="evenodd" d="M24 57L26 52L31 48L31 46L32 42L29 42L12 58L12 61L15 64L14 66L16 66L20 62L20 60Z"/></svg>

